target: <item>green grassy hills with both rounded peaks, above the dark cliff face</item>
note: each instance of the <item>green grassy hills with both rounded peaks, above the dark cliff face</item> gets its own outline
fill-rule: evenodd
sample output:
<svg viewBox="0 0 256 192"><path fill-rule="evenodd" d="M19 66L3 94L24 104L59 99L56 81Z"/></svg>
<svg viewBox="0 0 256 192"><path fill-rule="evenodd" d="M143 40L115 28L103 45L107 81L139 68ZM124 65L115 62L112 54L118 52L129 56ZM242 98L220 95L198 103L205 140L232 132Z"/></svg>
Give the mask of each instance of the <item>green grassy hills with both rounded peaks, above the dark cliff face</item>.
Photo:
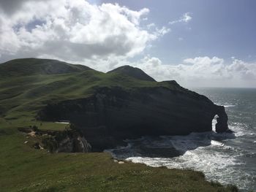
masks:
<svg viewBox="0 0 256 192"><path fill-rule="evenodd" d="M176 82L156 82L140 69L134 69L135 73L131 69L126 66L102 73L87 66L48 59L8 61L0 64L0 115L18 118L25 112L33 116L50 101L85 98L100 87L165 86L184 90Z"/></svg>

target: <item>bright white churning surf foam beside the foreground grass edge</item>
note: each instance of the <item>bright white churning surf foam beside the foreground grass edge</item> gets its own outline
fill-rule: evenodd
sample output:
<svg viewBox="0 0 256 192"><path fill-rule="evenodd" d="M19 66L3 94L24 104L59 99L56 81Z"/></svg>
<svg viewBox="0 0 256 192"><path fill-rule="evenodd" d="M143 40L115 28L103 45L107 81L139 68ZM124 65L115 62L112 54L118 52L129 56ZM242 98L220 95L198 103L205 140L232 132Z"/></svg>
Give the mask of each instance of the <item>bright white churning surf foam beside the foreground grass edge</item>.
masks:
<svg viewBox="0 0 256 192"><path fill-rule="evenodd" d="M187 150L184 155L174 158L144 158L129 157L127 161L146 164L148 166L166 166L169 169L193 169L201 171L206 175L207 180L219 181L222 184L239 183L241 174L236 172L235 166L243 164L236 159L233 151L230 153L224 150L217 151L216 147L226 147L222 142L213 141L212 145L197 147L195 150ZM178 146L180 144L181 146ZM189 144L189 142L187 142ZM191 143L190 143L191 144ZM184 148L184 144L176 142L176 147ZM232 173L232 174L231 174ZM233 180L225 177L232 175ZM244 186L241 186L243 188Z"/></svg>

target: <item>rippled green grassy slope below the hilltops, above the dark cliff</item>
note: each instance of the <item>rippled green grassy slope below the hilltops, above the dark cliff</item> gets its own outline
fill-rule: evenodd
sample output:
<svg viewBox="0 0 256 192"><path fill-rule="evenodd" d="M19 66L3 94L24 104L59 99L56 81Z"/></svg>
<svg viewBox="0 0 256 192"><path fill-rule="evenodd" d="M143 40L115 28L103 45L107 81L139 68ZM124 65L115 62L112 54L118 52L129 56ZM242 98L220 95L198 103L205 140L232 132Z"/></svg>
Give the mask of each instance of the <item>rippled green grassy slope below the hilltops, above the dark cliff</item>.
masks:
<svg viewBox="0 0 256 192"><path fill-rule="evenodd" d="M0 114L17 118L29 112L33 117L49 101L90 96L95 88L119 86L124 89L171 85L166 82L135 80L123 74L104 74L94 70L69 74L39 74L0 79ZM25 113L24 113L25 112Z"/></svg>

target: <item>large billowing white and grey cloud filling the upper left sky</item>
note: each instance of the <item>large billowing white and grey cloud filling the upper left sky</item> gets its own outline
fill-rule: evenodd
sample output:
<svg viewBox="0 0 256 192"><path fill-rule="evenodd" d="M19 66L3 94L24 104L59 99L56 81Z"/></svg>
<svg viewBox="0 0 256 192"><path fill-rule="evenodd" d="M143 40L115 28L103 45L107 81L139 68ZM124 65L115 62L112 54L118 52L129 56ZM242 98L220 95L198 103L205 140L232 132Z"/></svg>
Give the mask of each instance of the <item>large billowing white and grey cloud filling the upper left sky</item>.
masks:
<svg viewBox="0 0 256 192"><path fill-rule="evenodd" d="M11 0L0 5L4 9L0 13L2 61L13 55L70 61L133 57L170 31L165 26L143 28L140 21L149 12L146 8L135 11L84 0Z"/></svg>

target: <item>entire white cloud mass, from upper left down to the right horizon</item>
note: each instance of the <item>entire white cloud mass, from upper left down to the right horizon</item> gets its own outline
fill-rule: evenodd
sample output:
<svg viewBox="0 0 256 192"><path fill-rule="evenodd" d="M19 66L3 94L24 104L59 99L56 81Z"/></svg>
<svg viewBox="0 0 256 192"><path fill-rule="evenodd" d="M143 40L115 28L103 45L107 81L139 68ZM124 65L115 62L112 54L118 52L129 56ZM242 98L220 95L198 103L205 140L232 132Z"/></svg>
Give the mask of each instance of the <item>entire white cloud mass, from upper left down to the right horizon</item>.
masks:
<svg viewBox="0 0 256 192"><path fill-rule="evenodd" d="M156 80L177 80L184 86L256 87L256 64L236 58L203 56L163 64L160 58L143 56L147 47L170 32L150 23L149 12L84 0L0 0L0 62L56 58L102 72L131 65ZM169 24L190 20L187 12ZM135 56L140 59L131 60Z"/></svg>

